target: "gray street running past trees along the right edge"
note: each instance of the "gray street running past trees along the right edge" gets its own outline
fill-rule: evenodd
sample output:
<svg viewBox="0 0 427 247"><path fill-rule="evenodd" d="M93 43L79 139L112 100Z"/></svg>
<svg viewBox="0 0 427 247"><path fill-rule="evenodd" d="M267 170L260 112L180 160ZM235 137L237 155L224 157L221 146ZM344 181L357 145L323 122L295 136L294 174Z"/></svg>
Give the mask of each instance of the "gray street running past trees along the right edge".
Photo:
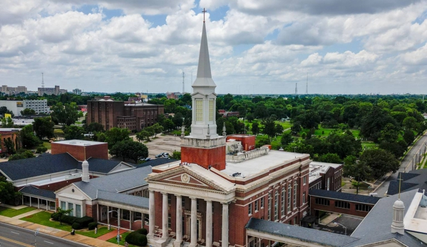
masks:
<svg viewBox="0 0 427 247"><path fill-rule="evenodd" d="M401 166L398 169L398 172L412 171L412 159L414 158L415 154L418 154L420 150L421 152L424 152L424 147L426 144L427 144L427 133L424 134L418 140L418 142L416 142L416 144L413 145L412 149L403 158L401 162ZM379 186L378 189L375 190L375 192L378 193L379 197L385 196L387 189L389 189L390 181L397 179L398 172L391 174L391 176L388 177L386 181L383 184L381 184L381 186ZM385 177L383 179L385 179Z"/></svg>

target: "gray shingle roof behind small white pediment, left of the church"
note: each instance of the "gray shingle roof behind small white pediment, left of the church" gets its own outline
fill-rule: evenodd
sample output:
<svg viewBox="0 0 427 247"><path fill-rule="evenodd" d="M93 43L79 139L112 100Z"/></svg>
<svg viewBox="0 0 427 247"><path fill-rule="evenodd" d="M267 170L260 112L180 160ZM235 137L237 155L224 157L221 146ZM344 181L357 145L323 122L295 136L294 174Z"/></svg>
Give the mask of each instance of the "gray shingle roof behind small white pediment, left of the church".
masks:
<svg viewBox="0 0 427 247"><path fill-rule="evenodd" d="M148 177L151 171L151 167L141 167L110 174L106 177L97 177L91 179L88 183L83 181L76 182L74 185L91 197L91 199L96 199L97 190L116 193L147 184L144 179Z"/></svg>

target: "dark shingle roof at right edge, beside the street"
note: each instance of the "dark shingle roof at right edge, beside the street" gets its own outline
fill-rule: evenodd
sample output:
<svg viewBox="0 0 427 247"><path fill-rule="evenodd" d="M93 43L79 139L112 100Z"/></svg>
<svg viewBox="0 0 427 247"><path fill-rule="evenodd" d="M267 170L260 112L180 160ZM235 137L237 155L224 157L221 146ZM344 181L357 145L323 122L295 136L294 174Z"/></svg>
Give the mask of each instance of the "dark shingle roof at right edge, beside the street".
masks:
<svg viewBox="0 0 427 247"><path fill-rule="evenodd" d="M427 170L419 169L411 172L399 172L398 177L401 177L401 192L410 191L413 189L427 190ZM398 194L398 180L390 181L388 195Z"/></svg>

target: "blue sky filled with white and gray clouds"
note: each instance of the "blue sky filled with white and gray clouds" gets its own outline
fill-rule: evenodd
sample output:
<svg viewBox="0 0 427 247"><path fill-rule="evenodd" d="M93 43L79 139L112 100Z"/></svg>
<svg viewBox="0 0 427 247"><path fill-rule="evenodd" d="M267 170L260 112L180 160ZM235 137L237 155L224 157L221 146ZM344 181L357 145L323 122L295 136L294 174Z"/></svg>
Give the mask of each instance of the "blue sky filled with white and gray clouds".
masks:
<svg viewBox="0 0 427 247"><path fill-rule="evenodd" d="M1 0L0 83L185 92L205 14L220 94L427 94L427 0Z"/></svg>

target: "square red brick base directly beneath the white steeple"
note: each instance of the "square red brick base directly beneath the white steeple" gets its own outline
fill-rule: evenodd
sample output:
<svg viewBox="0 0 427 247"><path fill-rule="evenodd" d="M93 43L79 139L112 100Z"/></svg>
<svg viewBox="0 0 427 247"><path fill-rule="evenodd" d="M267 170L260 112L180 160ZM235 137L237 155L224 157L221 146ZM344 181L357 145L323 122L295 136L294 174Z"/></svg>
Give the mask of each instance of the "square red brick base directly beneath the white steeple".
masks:
<svg viewBox="0 0 427 247"><path fill-rule="evenodd" d="M202 149L196 147L181 147L181 161L199 164L202 167L212 165L217 170L225 169L225 146Z"/></svg>

